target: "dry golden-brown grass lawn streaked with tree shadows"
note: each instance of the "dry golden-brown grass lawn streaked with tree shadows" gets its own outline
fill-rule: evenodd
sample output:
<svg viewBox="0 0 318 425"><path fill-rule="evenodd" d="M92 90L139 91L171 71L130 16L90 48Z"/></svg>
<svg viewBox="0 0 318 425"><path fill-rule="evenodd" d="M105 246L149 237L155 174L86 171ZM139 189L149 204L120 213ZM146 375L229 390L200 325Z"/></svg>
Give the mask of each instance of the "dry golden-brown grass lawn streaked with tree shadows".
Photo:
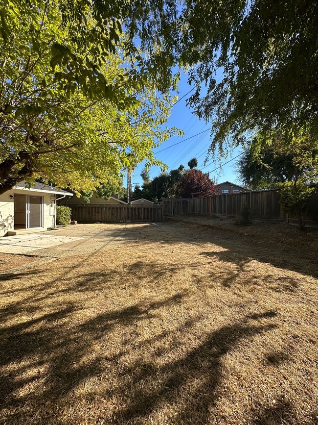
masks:
<svg viewBox="0 0 318 425"><path fill-rule="evenodd" d="M180 224L2 275L6 424L315 424L306 252Z"/></svg>

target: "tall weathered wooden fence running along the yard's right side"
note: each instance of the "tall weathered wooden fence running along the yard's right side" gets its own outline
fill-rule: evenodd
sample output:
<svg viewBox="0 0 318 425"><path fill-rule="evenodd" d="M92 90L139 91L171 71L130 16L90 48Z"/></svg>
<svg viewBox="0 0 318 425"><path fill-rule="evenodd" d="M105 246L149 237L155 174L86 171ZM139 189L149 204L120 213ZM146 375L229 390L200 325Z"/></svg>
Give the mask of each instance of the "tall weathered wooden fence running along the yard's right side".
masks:
<svg viewBox="0 0 318 425"><path fill-rule="evenodd" d="M250 206L253 218L269 221L296 219L296 217L286 216L279 200L280 193L276 189L273 189L188 200L165 199L162 205L164 215L195 214L239 217L246 202ZM307 216L308 219L318 222L318 193L315 193L310 200Z"/></svg>

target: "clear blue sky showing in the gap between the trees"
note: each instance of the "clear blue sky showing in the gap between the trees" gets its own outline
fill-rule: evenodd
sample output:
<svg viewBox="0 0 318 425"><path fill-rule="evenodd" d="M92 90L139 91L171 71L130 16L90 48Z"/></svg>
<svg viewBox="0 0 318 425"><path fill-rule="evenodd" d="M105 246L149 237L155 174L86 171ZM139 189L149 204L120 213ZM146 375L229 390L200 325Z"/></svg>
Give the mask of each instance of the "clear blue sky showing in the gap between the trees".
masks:
<svg viewBox="0 0 318 425"><path fill-rule="evenodd" d="M217 81L222 77L222 72L220 71L219 75L216 75ZM185 95L189 90L190 86L187 83L187 75L182 75L181 80L179 82L179 98ZM211 172L219 166L218 160L213 161L212 158L209 158L207 163L204 165L204 160L206 158L206 152L209 147L209 131L204 130L208 129L210 125L205 124L204 121L200 121L192 112L192 110L186 106L186 99L190 96L186 96L184 99L180 100L172 109L171 115L167 121L168 127L177 127L184 131L184 136L175 136L166 140L164 143L160 145L159 148L155 149L156 157L164 162L169 168L167 172L170 170L176 169L183 164L187 167L187 163L191 158L198 159L198 169L203 172ZM191 137L197 133L201 133L196 137ZM184 140L188 139L188 140ZM183 141L184 140L184 141ZM181 143L178 143L181 142ZM177 146L172 146L178 143ZM242 149L237 148L233 150L231 155L229 155L226 159L223 158L221 164L229 161L231 158L237 156ZM158 152L158 153L157 153ZM238 176L235 173L235 164L237 159L229 162L224 165L221 169L213 171L210 173L210 177L216 178L218 183L222 181L231 181L233 183L239 183ZM132 184L142 184L142 178L140 173L144 168L144 163L138 165L135 169L134 174L132 175ZM152 167L150 170L150 178L152 179L156 175L159 175L160 168ZM125 185L125 182L124 182ZM134 190L134 186L132 187Z"/></svg>

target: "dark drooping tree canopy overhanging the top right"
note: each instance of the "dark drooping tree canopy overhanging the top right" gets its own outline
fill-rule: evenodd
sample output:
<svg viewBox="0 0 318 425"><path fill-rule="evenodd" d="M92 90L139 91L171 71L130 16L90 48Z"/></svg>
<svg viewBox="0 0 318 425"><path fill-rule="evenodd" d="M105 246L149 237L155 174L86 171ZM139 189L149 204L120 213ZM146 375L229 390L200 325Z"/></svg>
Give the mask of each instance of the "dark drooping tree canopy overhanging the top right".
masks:
<svg viewBox="0 0 318 425"><path fill-rule="evenodd" d="M286 146L304 132L317 140L317 1L67 0L66 19L80 26L87 8L104 45L116 42L114 26L123 23L125 52L162 87L174 65L186 67L198 84L189 104L211 123L212 152L226 153L255 131L269 144L273 127Z"/></svg>

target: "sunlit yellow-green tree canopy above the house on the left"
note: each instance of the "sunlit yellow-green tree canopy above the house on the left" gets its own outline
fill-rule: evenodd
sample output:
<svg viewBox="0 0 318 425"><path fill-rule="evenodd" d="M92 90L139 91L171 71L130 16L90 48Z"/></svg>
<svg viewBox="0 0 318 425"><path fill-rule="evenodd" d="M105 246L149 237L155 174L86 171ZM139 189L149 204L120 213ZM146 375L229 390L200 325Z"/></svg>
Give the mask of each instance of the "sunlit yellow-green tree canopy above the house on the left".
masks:
<svg viewBox="0 0 318 425"><path fill-rule="evenodd" d="M0 193L37 177L90 191L132 157L162 166L152 148L174 134L162 129L173 99L122 58L120 29L103 50L89 11L79 28L62 1L33 3L1 8Z"/></svg>

